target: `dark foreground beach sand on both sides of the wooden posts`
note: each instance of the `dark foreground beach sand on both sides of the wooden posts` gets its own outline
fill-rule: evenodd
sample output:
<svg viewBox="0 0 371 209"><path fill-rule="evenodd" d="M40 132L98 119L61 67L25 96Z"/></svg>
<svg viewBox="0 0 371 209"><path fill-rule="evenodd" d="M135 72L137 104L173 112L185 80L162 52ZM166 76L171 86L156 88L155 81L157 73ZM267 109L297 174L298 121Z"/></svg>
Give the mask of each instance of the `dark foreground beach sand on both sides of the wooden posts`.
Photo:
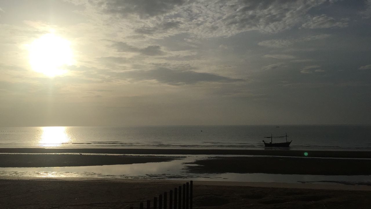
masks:
<svg viewBox="0 0 371 209"><path fill-rule="evenodd" d="M182 182L183 183L183 182ZM219 185L218 185L219 184ZM236 186L242 185L242 186ZM128 209L178 186L171 181L0 179L1 209ZM303 184L301 188L246 186L236 182L194 182L195 209L369 209L367 187ZM258 183L255 183L259 186ZM288 184L282 184L282 187ZM293 184L294 187L296 184ZM308 189L320 187L322 189ZM339 190L345 189L345 190Z"/></svg>

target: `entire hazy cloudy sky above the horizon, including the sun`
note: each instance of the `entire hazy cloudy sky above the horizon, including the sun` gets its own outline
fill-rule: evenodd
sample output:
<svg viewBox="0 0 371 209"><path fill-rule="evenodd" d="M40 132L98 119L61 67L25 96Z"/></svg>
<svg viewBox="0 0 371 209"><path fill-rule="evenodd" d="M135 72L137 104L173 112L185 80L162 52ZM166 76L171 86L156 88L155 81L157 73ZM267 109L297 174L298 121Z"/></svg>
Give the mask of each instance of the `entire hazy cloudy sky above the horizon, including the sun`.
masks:
<svg viewBox="0 0 371 209"><path fill-rule="evenodd" d="M2 127L371 124L370 90L371 0L0 0Z"/></svg>

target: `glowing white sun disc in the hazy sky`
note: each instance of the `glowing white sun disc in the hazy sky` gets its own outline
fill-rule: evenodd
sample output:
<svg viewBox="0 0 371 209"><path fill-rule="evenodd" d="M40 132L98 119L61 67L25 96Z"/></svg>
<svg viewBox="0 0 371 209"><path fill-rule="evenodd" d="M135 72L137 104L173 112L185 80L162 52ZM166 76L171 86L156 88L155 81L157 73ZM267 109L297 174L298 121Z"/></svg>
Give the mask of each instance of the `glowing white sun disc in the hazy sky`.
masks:
<svg viewBox="0 0 371 209"><path fill-rule="evenodd" d="M49 77L65 74L63 66L72 65L70 42L47 33L29 45L31 68Z"/></svg>

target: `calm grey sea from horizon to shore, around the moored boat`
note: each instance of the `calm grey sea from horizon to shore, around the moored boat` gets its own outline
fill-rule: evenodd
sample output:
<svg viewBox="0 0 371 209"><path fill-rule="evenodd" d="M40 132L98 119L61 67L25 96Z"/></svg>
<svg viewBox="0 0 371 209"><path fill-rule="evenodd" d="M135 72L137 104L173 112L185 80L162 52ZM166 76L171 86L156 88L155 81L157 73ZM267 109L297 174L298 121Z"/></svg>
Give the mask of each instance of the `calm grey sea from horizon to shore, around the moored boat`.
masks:
<svg viewBox="0 0 371 209"><path fill-rule="evenodd" d="M370 125L0 127L0 147L265 149L286 133L291 150L371 151Z"/></svg>

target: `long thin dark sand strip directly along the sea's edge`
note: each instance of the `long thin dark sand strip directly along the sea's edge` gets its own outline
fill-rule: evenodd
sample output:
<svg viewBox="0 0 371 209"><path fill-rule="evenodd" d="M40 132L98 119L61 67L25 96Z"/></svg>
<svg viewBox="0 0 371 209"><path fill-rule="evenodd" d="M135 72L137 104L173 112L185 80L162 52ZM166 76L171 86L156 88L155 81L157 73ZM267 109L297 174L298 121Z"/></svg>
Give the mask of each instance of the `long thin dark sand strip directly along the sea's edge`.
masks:
<svg viewBox="0 0 371 209"><path fill-rule="evenodd" d="M227 150L227 149L138 149L138 148L0 148L0 153L95 153L95 154L204 154L263 155L287 157L371 158L371 151L324 150Z"/></svg>

